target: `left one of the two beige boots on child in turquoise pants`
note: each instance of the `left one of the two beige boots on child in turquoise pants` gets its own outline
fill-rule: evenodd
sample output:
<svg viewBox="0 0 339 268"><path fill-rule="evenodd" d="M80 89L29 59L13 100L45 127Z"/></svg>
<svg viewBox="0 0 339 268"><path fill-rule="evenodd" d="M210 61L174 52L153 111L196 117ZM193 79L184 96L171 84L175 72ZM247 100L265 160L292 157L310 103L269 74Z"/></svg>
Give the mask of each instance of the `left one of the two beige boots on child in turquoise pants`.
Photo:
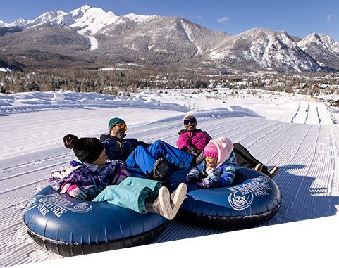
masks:
<svg viewBox="0 0 339 268"><path fill-rule="evenodd" d="M171 208L171 195L168 189L162 186L159 189L158 197L152 203L149 199L145 200L144 206L146 211L161 215L166 219L173 219L175 214Z"/></svg>

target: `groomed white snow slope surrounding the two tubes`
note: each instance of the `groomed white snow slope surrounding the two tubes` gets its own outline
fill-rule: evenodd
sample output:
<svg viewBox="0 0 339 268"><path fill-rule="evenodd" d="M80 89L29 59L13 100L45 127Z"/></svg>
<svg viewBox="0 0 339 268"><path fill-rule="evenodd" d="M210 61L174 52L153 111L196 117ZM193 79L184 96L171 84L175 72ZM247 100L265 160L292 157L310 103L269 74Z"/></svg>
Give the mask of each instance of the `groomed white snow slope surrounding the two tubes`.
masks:
<svg viewBox="0 0 339 268"><path fill-rule="evenodd" d="M163 90L165 91L165 90ZM301 96L192 94L144 91L134 98L32 92L0 94L0 267L339 267L339 128L335 110ZM107 133L123 117L128 137L175 146L183 116L213 137L242 143L267 166L283 205L273 219L251 229L216 231L177 219L145 248L100 260L50 253L22 223L28 200L47 186L52 170L66 167L73 151L66 134Z"/></svg>

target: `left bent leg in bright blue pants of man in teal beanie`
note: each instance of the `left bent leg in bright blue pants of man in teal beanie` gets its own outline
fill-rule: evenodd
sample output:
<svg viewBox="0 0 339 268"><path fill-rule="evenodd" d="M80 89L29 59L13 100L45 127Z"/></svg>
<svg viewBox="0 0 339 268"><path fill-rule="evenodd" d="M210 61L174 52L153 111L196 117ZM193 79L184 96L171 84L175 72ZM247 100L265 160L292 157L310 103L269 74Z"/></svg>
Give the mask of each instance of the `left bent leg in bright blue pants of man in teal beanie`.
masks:
<svg viewBox="0 0 339 268"><path fill-rule="evenodd" d="M150 176L156 159L144 146L137 146L134 151L128 156L125 164L128 167L140 167L140 169L147 175Z"/></svg>

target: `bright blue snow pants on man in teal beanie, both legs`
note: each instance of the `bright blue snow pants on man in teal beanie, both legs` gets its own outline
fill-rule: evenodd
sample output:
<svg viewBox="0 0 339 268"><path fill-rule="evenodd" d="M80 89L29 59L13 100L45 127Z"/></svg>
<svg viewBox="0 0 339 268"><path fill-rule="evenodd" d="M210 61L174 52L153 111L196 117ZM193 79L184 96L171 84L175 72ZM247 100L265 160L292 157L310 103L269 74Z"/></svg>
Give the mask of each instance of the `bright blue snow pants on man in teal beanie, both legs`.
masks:
<svg viewBox="0 0 339 268"><path fill-rule="evenodd" d="M154 168L157 159L164 158L172 165L187 168L190 167L193 156L179 150L164 141L155 141L149 148L137 146L128 156L125 164L128 167L140 167L144 174L149 174Z"/></svg>

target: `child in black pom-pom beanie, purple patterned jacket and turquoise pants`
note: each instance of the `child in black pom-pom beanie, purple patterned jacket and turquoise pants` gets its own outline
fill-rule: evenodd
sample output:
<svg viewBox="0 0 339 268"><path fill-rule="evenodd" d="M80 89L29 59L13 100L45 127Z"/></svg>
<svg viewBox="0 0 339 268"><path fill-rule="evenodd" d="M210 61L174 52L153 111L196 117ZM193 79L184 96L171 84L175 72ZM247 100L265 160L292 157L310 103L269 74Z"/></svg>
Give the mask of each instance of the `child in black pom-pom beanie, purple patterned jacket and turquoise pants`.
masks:
<svg viewBox="0 0 339 268"><path fill-rule="evenodd" d="M154 212L166 219L173 219L185 200L186 184L179 184L170 194L160 181L130 177L123 161L107 159L97 138L78 139L68 134L63 142L78 159L49 177L49 185L60 193L80 200L108 201L142 214Z"/></svg>

